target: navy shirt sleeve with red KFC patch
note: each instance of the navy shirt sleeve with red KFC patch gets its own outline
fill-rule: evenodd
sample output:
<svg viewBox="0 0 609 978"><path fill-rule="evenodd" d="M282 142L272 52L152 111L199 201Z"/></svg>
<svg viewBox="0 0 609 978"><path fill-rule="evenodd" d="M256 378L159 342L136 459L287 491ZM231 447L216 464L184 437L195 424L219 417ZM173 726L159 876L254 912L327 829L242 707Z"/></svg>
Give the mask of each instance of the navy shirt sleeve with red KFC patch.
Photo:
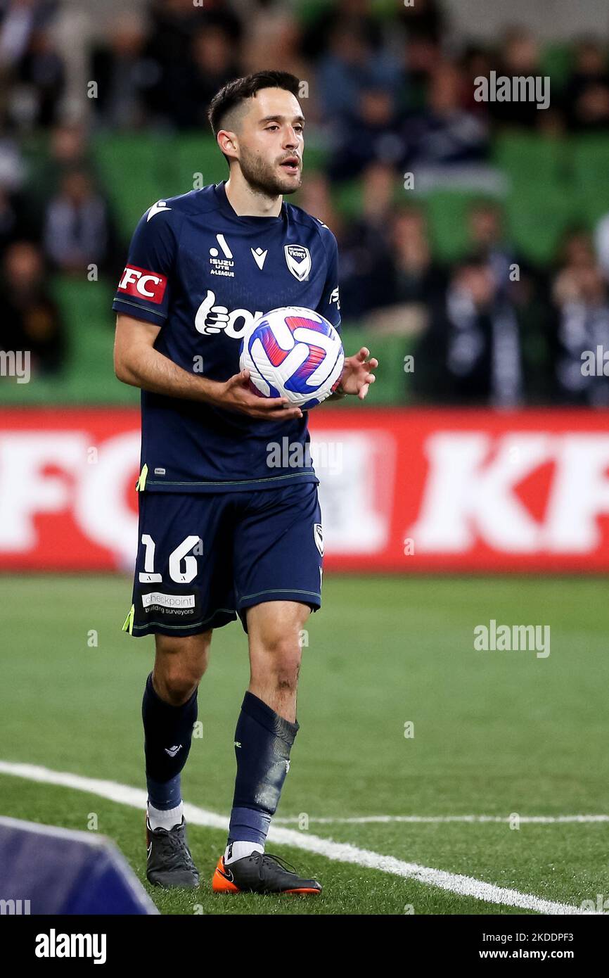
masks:
<svg viewBox="0 0 609 978"><path fill-rule="evenodd" d="M114 312L155 326L167 319L175 277L177 215L171 210L159 200L142 217L112 302Z"/></svg>

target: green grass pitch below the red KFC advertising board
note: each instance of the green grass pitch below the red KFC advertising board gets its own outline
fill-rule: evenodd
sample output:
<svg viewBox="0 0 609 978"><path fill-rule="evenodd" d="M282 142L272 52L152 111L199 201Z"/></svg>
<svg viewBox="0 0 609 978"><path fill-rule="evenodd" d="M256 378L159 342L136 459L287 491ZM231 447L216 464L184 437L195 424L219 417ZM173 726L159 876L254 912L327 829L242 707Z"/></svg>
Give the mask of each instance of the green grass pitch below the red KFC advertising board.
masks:
<svg viewBox="0 0 609 978"><path fill-rule="evenodd" d="M120 632L130 582L23 576L0 584L0 760L143 788L140 704L152 639ZM475 650L474 627L493 618L549 625L549 656ZM278 816L306 813L316 835L544 900L607 899L607 822L315 820L609 813L608 619L599 579L327 574L303 648L301 730ZM203 736L183 775L187 801L224 815L247 680L236 623L214 636L198 696ZM144 880L142 812L0 776L2 815L86 829L91 813ZM224 834L191 825L189 836L201 885L151 889L163 913L526 912L275 845L269 851L318 874L321 898L217 897L210 877Z"/></svg>

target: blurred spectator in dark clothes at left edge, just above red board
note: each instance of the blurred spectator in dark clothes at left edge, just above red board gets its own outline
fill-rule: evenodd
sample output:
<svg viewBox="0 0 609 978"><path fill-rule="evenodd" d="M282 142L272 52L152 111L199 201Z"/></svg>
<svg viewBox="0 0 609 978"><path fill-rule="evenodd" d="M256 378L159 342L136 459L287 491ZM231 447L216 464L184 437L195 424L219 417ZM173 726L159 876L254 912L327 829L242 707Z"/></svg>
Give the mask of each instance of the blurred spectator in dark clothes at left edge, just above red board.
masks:
<svg viewBox="0 0 609 978"><path fill-rule="evenodd" d="M47 288L43 256L29 242L11 244L2 263L0 349L29 351L30 370L52 374L65 355L58 306Z"/></svg>

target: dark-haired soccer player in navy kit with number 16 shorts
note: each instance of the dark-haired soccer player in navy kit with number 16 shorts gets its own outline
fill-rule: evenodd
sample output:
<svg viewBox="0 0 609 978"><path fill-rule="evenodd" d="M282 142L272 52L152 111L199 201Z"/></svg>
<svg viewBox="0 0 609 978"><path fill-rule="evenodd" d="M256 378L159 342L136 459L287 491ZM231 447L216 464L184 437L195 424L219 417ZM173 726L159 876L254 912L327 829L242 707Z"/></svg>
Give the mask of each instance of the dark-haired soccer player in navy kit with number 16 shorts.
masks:
<svg viewBox="0 0 609 978"><path fill-rule="evenodd" d="M256 396L239 372L240 337L260 313L298 305L340 325L334 236L283 201L302 180L298 84L260 71L218 92L209 119L229 179L152 205L112 306L116 376L142 388L139 548L124 628L155 640L142 704L147 874L165 887L198 885L180 773L213 629L239 615L250 683L213 889L321 892L265 853L298 731L299 634L321 605L318 479L310 465L267 465L270 443L308 442L307 416ZM365 348L346 357L336 393L365 398L376 366Z"/></svg>

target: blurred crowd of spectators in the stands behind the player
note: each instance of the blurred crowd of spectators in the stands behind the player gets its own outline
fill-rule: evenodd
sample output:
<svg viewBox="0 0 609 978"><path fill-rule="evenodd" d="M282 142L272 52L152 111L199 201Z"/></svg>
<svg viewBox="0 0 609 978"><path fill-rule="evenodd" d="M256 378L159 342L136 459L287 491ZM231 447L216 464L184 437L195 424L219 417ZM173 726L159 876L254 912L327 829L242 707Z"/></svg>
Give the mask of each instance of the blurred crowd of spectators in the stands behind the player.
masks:
<svg viewBox="0 0 609 978"><path fill-rule="evenodd" d="M572 41L568 70L552 78L541 111L475 98L474 79L492 70L547 74L543 46L526 28L506 29L493 45L457 44L442 0L392 9L335 0L303 17L305 6L127 7L91 34L85 73L96 92L78 112L58 30L65 3L0 0L0 348L30 349L40 371L59 369L65 336L50 277L92 265L109 278L119 270L126 243L96 178L90 134L207 132L207 105L225 82L274 67L306 81L307 130L326 150L323 172L307 175L305 155L298 202L338 239L347 329L362 323L413 337L411 389L421 401L609 403L609 378L581 369L584 351L609 349L609 217L595 233L569 229L554 261L533 267L490 196L498 132L609 135L606 39ZM22 143L37 133L49 154L26 165ZM396 180L409 171L429 187L458 177L488 191L472 202L456 265L438 262L424 204L395 205ZM354 178L362 206L348 218L336 201Z"/></svg>

